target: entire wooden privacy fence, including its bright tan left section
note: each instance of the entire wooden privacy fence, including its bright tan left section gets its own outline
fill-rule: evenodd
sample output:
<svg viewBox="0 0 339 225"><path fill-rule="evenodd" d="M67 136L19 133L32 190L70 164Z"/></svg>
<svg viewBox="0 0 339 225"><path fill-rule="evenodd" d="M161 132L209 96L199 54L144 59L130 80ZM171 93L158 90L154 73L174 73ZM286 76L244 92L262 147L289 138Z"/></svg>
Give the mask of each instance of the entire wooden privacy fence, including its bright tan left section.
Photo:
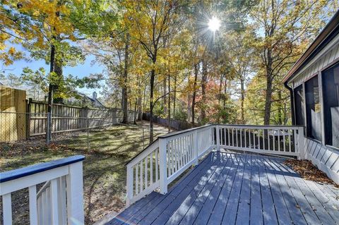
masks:
<svg viewBox="0 0 339 225"><path fill-rule="evenodd" d="M121 123L121 109L95 109L53 104L51 132L61 133ZM24 90L0 87L0 142L25 140L47 131L47 102L26 100ZM128 121L133 122L134 111Z"/></svg>

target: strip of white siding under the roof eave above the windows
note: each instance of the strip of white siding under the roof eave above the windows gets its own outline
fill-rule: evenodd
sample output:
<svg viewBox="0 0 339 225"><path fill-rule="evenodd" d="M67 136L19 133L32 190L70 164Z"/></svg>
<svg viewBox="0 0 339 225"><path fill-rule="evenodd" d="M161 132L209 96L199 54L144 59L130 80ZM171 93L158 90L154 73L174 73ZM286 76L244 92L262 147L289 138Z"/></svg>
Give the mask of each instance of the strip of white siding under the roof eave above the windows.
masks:
<svg viewBox="0 0 339 225"><path fill-rule="evenodd" d="M337 59L339 59L339 35L336 35L331 42L314 57L314 59L309 61L309 63L295 75L295 78L293 78L289 84L291 85L292 83L293 87L301 85L304 81L309 80L312 75L323 70L324 67Z"/></svg>

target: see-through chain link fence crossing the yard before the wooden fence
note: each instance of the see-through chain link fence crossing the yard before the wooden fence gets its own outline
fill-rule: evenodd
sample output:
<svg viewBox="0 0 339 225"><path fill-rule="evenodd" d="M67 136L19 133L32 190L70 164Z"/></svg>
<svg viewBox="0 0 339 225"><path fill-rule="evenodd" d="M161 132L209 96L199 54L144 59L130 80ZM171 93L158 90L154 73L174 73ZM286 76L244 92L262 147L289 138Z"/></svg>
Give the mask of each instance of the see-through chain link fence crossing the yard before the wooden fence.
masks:
<svg viewBox="0 0 339 225"><path fill-rule="evenodd" d="M133 121L134 115L129 115ZM0 142L34 142L81 150L109 150L116 147L143 149L148 145L149 123L122 124L117 117L87 118L46 113L0 112ZM167 133L156 126L154 136ZM123 145L121 145L123 144ZM121 145L121 146L119 146Z"/></svg>

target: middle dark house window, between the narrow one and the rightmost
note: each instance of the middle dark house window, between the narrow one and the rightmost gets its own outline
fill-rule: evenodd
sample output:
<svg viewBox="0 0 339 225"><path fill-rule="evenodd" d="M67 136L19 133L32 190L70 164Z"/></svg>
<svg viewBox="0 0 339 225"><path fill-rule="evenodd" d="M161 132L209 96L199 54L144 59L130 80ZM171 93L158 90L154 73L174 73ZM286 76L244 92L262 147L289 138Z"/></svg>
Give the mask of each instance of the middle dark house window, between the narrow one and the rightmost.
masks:
<svg viewBox="0 0 339 225"><path fill-rule="evenodd" d="M305 83L307 136L321 140L321 107L318 76Z"/></svg>

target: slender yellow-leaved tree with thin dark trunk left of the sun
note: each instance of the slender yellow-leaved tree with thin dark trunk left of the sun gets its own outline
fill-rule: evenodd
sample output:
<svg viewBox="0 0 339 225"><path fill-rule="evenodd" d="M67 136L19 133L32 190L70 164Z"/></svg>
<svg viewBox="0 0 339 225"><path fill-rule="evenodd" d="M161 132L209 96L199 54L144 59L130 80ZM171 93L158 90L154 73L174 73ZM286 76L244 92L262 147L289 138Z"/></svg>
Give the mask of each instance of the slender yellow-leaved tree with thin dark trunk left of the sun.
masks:
<svg viewBox="0 0 339 225"><path fill-rule="evenodd" d="M180 1L150 0L145 2L126 1L128 6L131 37L137 39L150 59L150 142L153 142L153 108L157 58L165 47L164 37L169 28L177 23Z"/></svg>

